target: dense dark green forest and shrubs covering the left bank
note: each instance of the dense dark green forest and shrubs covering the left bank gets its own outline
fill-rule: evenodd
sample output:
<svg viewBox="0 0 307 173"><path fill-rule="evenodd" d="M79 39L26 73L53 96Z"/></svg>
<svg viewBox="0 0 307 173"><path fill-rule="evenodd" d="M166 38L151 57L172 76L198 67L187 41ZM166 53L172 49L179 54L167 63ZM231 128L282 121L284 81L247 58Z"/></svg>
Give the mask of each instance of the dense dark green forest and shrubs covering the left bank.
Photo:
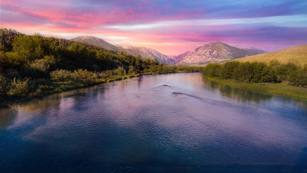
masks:
<svg viewBox="0 0 307 173"><path fill-rule="evenodd" d="M0 104L141 74L201 72L80 42L0 29Z"/></svg>

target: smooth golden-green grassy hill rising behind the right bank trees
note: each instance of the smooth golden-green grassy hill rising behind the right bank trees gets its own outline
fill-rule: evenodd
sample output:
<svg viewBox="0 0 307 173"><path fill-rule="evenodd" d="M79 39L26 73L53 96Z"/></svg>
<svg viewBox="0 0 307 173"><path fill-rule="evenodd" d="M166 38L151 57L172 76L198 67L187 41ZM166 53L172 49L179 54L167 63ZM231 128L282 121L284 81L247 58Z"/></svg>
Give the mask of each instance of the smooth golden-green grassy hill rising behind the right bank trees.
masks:
<svg viewBox="0 0 307 173"><path fill-rule="evenodd" d="M307 45L293 46L275 52L268 52L260 55L239 58L236 59L235 61L240 61L240 62L258 61L258 62L269 63L271 60L278 60L281 63L287 63L289 60L295 60L301 64L306 64Z"/></svg>

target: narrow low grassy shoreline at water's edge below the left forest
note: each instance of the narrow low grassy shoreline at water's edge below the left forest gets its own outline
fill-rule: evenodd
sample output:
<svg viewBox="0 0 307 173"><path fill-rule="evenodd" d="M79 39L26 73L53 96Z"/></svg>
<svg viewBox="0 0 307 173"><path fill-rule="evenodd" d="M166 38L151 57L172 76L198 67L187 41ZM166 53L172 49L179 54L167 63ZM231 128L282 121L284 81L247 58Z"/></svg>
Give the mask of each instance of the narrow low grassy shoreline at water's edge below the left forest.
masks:
<svg viewBox="0 0 307 173"><path fill-rule="evenodd" d="M197 72L184 72L184 71L179 71L176 73L197 73ZM70 81L70 82L53 82L52 86L54 87L53 90L50 91L45 91L43 95L40 96L25 96L25 97L20 97L18 99L15 99L14 101L8 101L8 102L1 102L0 107L6 107L10 106L12 104L16 103L21 103L25 101L30 101L35 98L43 98L46 96L49 96L51 94L56 94L56 93L61 93L69 90L74 90L74 89L80 89L80 88L87 88L107 82L113 82L113 81L119 81L119 80L125 80L129 78L134 78L134 77L139 77L139 76L145 76L145 75L159 75L159 74L171 74L171 73L142 73L142 74L134 74L134 75L124 75L124 76L113 76L111 78L106 78L106 79L94 79L94 80L87 80L87 81Z"/></svg>

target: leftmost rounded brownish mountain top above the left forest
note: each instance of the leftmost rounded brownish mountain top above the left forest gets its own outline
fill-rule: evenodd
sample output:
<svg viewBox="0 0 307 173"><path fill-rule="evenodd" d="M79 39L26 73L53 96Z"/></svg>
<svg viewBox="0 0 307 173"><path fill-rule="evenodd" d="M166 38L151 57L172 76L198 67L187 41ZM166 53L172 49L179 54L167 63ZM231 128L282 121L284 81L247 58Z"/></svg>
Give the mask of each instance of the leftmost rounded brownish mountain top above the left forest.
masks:
<svg viewBox="0 0 307 173"><path fill-rule="evenodd" d="M71 40L75 42L82 42L86 44L99 46L109 51L118 51L118 47L104 41L103 39L93 37L93 36L80 36L80 37L73 38Z"/></svg>

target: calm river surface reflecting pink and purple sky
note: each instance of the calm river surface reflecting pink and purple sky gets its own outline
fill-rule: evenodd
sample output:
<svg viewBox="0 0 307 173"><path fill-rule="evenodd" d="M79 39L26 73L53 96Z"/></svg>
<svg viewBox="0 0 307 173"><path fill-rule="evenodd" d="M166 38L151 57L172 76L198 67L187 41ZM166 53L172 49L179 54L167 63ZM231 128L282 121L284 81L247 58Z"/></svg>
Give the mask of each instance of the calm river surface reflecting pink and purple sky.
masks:
<svg viewBox="0 0 307 173"><path fill-rule="evenodd" d="M307 101L201 73L0 108L0 172L306 172Z"/></svg>

